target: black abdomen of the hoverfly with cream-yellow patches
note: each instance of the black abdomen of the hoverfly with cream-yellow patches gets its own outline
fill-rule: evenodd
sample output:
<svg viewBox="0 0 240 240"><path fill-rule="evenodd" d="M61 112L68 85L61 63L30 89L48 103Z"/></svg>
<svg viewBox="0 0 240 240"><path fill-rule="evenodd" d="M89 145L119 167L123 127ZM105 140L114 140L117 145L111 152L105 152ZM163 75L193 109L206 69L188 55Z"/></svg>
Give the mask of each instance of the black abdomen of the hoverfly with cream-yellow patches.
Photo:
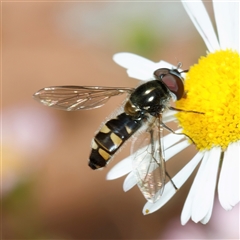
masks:
<svg viewBox="0 0 240 240"><path fill-rule="evenodd" d="M126 113L106 122L92 141L92 152L88 165L92 169L106 166L113 154L141 126L141 120L134 120Z"/></svg>

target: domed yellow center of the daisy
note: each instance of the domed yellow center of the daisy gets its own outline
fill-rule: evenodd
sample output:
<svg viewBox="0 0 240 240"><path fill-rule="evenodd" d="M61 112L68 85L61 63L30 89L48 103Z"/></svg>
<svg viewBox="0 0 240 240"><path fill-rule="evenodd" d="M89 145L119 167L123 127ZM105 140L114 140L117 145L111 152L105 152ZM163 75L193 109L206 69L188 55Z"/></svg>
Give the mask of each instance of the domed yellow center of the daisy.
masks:
<svg viewBox="0 0 240 240"><path fill-rule="evenodd" d="M240 140L240 55L221 50L201 57L185 80L186 98L176 107L202 112L176 114L183 132L200 150Z"/></svg>

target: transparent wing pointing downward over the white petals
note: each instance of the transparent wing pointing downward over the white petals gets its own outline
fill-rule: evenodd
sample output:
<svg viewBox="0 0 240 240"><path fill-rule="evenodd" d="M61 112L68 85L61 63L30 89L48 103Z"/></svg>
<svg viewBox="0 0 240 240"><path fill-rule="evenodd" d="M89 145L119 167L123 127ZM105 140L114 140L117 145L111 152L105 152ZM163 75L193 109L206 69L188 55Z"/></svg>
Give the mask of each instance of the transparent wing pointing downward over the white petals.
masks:
<svg viewBox="0 0 240 240"><path fill-rule="evenodd" d="M132 145L133 172L139 189L149 202L160 198L166 178L161 120L152 120L147 131L138 135Z"/></svg>

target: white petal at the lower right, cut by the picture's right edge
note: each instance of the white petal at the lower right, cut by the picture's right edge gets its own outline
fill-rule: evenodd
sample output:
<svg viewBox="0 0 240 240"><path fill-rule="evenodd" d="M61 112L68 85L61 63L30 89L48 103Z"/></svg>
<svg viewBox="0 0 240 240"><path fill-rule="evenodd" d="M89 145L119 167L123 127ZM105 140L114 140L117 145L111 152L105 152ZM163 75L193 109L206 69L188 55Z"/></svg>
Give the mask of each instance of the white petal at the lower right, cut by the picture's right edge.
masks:
<svg viewBox="0 0 240 240"><path fill-rule="evenodd" d="M239 161L239 142L232 143L224 153L218 184L219 201L225 210L231 210L240 201Z"/></svg>

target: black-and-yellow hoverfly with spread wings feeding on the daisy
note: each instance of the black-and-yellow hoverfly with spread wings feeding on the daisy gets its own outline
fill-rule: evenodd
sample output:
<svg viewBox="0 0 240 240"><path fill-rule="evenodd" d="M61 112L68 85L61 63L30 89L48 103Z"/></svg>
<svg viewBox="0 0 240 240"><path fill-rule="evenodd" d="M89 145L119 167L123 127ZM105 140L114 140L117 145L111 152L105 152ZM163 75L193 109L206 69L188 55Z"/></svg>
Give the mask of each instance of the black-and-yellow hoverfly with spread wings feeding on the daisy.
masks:
<svg viewBox="0 0 240 240"><path fill-rule="evenodd" d="M92 140L89 166L105 167L120 147L136 136L132 143L133 171L141 192L151 202L162 195L166 176L171 180L165 168L162 131L173 130L163 123L162 115L167 109L181 111L171 107L170 100L179 100L185 94L178 69L160 68L153 76L155 80L136 88L57 86L43 88L33 95L46 106L75 111L98 108L113 96L127 94L122 112L103 124Z"/></svg>

